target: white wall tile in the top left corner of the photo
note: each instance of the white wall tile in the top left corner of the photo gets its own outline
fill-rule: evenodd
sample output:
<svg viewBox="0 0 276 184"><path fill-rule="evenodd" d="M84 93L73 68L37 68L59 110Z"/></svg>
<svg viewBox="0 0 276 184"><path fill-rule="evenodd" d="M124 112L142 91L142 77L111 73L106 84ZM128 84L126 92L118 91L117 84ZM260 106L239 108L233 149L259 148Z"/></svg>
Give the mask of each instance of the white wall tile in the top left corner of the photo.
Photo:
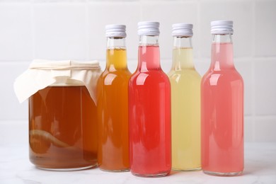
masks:
<svg viewBox="0 0 276 184"><path fill-rule="evenodd" d="M28 3L1 3L1 60L32 59L30 10Z"/></svg>

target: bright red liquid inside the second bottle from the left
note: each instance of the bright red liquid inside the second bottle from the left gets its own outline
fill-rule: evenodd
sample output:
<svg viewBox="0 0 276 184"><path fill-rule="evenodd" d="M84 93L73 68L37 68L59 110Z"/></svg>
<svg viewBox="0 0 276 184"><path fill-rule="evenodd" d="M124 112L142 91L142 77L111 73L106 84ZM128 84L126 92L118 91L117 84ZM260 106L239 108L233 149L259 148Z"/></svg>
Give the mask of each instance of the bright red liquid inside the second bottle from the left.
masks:
<svg viewBox="0 0 276 184"><path fill-rule="evenodd" d="M159 61L159 47L139 47L129 83L130 164L138 176L171 171L171 86Z"/></svg>

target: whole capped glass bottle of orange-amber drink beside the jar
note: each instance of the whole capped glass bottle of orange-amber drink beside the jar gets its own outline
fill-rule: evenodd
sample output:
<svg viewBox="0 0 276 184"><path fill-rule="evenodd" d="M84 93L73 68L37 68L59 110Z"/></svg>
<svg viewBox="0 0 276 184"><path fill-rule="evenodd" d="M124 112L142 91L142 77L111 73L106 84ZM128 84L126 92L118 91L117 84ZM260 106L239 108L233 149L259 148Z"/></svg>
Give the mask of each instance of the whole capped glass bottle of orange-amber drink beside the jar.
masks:
<svg viewBox="0 0 276 184"><path fill-rule="evenodd" d="M130 171L128 81L125 25L106 25L106 68L97 85L98 166L103 171Z"/></svg>

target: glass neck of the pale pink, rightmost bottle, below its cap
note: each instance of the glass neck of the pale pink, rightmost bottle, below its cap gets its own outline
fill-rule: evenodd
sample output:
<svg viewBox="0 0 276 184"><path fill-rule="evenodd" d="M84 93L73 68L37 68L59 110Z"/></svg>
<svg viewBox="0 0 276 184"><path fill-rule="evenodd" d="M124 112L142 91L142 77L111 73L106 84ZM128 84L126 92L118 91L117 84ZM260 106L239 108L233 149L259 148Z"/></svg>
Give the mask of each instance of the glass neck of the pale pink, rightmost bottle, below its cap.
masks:
<svg viewBox="0 0 276 184"><path fill-rule="evenodd" d="M214 71L234 68L231 34L212 35L211 67Z"/></svg>

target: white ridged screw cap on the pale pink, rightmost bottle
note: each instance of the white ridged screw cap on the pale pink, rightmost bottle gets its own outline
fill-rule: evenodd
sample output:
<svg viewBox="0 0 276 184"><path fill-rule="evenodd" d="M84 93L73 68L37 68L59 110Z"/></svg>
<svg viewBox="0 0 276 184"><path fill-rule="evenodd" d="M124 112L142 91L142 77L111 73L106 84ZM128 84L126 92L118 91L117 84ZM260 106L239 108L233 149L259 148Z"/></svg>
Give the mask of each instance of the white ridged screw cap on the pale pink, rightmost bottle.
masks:
<svg viewBox="0 0 276 184"><path fill-rule="evenodd" d="M233 34L233 21L212 21L212 34Z"/></svg>

